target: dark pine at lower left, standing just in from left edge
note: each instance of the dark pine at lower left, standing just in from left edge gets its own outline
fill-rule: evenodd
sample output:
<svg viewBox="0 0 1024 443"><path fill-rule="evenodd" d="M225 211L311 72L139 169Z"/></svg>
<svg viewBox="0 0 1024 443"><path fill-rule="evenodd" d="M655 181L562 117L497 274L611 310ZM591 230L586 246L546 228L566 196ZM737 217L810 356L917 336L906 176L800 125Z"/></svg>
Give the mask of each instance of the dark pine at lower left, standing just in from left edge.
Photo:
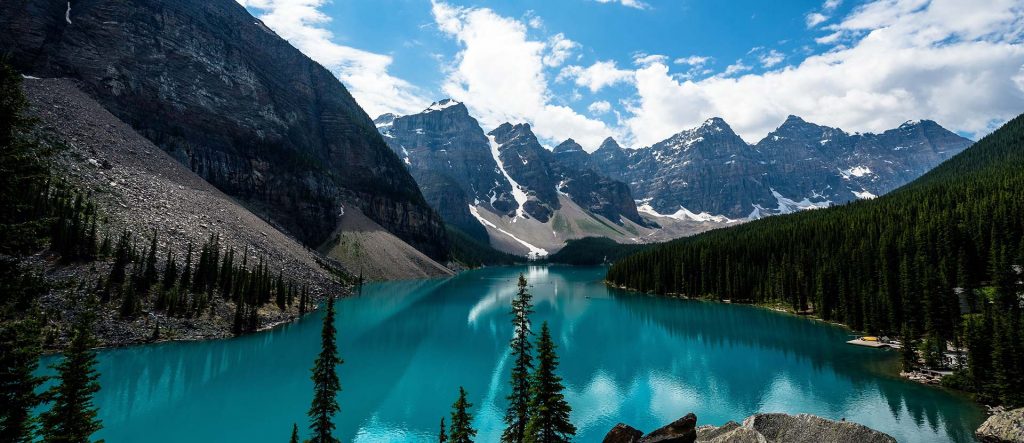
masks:
<svg viewBox="0 0 1024 443"><path fill-rule="evenodd" d="M88 442L102 428L92 397L99 391L92 314L82 314L63 360L53 366L60 383L50 389L53 405L41 415L44 442Z"/></svg>

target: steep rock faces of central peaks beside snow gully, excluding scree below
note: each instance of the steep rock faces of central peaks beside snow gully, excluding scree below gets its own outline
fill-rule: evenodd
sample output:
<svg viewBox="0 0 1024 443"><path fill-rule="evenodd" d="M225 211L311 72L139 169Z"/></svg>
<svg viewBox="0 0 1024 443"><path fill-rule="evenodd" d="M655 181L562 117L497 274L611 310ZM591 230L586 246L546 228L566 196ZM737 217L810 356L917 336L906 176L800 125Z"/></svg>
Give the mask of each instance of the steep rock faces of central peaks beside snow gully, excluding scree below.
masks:
<svg viewBox="0 0 1024 443"><path fill-rule="evenodd" d="M514 217L519 203L508 178L526 193L526 216L541 222L560 209L562 193L608 220L647 223L637 213L629 186L595 171L590 154L575 141L566 140L549 151L525 124L504 124L485 135L466 106L451 99L420 114L381 116L374 123L430 205L447 223L479 239L486 240L486 231L468 207Z"/></svg>

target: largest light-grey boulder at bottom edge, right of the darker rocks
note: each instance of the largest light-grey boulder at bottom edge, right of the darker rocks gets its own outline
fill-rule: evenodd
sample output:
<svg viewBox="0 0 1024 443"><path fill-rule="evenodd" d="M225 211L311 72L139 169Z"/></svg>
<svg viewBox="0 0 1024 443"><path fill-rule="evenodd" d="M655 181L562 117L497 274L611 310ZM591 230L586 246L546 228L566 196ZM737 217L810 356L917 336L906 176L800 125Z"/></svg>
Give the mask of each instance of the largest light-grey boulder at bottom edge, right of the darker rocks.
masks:
<svg viewBox="0 0 1024 443"><path fill-rule="evenodd" d="M806 413L758 413L746 417L743 428L757 431L769 442L896 443L896 439L863 425L836 422Z"/></svg>

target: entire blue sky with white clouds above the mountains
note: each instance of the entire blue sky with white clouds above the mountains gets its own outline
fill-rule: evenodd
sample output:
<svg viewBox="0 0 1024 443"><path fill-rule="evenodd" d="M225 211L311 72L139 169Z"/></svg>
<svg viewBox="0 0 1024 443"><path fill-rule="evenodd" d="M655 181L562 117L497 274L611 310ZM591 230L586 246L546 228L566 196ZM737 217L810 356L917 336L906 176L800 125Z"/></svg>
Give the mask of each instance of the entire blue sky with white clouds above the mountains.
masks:
<svg viewBox="0 0 1024 443"><path fill-rule="evenodd" d="M650 144L710 117L756 142L790 114L848 131L1024 112L1024 1L239 0L371 117L452 96L484 130Z"/></svg>

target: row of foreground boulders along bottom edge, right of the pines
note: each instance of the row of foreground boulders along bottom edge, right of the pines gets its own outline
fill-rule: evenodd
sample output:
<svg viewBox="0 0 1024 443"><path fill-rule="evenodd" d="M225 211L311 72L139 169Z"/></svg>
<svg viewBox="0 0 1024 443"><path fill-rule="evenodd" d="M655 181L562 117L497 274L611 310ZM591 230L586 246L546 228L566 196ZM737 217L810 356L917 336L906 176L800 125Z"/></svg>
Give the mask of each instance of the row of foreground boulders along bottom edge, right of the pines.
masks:
<svg viewBox="0 0 1024 443"><path fill-rule="evenodd" d="M759 413L746 417L742 425L728 422L720 427L697 427L696 423L691 412L643 437L640 431L618 424L604 437L604 443L896 443L862 425L804 413Z"/></svg>

